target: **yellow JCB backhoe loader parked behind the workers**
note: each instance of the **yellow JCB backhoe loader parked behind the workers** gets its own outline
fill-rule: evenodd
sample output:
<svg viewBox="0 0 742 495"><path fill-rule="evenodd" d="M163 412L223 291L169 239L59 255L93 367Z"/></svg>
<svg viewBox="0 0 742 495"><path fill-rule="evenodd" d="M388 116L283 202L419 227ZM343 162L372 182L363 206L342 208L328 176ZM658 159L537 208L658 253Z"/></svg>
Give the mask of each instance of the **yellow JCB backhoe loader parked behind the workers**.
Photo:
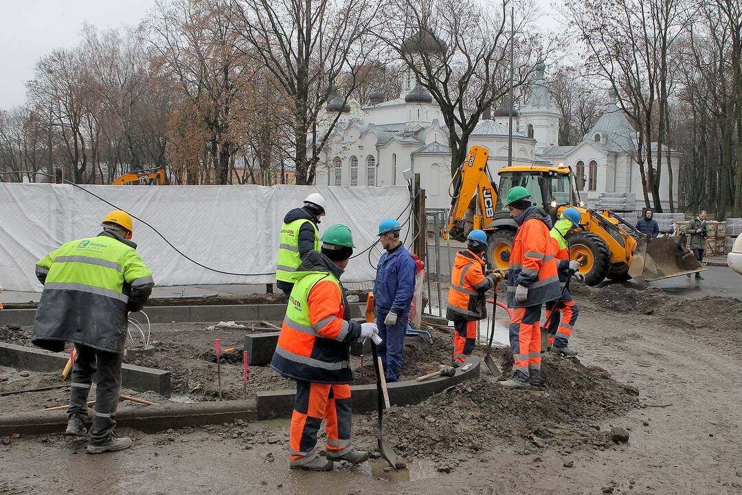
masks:
<svg viewBox="0 0 742 495"><path fill-rule="evenodd" d="M513 165L499 171L499 186L487 170L489 150L472 146L467 160L451 181L451 209L444 238L464 242L472 229L487 232L487 262L508 269L510 246L517 225L501 197L513 186L531 191L533 204L551 215L574 206L582 214L580 231L568 240L570 258L580 260L585 282L594 286L605 278L626 281L637 278L657 281L703 269L679 237L648 239L610 210L585 208L571 168L554 165Z"/></svg>

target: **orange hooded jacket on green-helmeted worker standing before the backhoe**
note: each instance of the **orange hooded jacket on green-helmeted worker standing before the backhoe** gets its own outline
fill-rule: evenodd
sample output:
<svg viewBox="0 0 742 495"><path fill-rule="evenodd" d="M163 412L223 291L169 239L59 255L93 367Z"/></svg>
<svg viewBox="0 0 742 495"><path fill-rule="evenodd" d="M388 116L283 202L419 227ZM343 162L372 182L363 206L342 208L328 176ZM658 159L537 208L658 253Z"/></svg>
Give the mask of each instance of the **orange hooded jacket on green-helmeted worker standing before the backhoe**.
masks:
<svg viewBox="0 0 742 495"><path fill-rule="evenodd" d="M551 218L542 209L531 206L514 219L519 225L508 267L508 306L511 308L538 306L554 301L561 295L556 249L549 230ZM517 286L528 287L523 303L515 300Z"/></svg>

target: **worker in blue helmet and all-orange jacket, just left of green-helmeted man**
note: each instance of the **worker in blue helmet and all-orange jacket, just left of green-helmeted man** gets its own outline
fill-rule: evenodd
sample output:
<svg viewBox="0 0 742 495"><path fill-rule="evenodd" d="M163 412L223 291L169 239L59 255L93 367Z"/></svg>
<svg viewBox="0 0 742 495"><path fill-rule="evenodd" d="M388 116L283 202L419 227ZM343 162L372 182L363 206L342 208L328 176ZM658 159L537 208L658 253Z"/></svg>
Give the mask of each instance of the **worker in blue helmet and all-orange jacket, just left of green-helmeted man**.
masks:
<svg viewBox="0 0 742 495"><path fill-rule="evenodd" d="M485 293L495 286L496 275L485 277L482 255L487 235L476 229L467 236L467 250L456 253L451 269L446 318L453 321L453 367L464 364L476 344L476 322L487 318Z"/></svg>

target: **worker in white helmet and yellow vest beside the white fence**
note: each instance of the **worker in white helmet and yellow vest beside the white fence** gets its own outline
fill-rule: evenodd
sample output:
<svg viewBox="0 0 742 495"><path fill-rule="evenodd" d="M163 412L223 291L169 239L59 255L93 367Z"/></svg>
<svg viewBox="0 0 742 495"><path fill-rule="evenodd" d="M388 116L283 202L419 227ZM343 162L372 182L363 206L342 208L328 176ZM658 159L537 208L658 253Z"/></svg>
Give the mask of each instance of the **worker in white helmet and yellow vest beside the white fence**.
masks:
<svg viewBox="0 0 742 495"><path fill-rule="evenodd" d="M304 206L289 210L280 227L276 286L289 297L294 286L292 274L304 257L320 249L320 233L317 226L325 214L322 194L313 192L304 200Z"/></svg>

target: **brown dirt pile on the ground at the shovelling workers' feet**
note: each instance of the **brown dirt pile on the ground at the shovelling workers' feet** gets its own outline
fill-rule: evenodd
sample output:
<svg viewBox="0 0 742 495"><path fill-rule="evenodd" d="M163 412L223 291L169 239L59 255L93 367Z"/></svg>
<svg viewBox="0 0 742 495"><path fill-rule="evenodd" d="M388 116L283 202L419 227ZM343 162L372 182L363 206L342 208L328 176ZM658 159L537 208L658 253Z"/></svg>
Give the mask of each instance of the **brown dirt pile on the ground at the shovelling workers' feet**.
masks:
<svg viewBox="0 0 742 495"><path fill-rule="evenodd" d="M497 352L508 373L510 353ZM544 387L508 390L482 376L421 404L393 407L385 415L385 435L404 456L428 456L453 468L477 451L503 443L516 445L524 454L546 447L610 448L615 439L597 422L639 405L635 390L577 359L550 357L543 373Z"/></svg>

